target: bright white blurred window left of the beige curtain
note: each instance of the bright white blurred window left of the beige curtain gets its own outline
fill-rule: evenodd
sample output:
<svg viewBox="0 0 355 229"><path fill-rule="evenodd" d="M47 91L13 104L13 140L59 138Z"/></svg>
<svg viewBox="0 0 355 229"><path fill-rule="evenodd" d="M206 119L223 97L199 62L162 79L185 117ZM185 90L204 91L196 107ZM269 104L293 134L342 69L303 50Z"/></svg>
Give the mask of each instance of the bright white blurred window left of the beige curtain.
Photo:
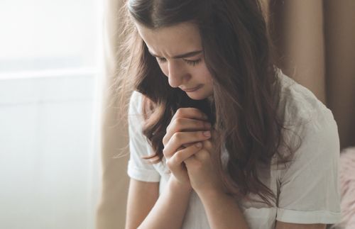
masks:
<svg viewBox="0 0 355 229"><path fill-rule="evenodd" d="M0 1L0 228L94 228L101 9Z"/></svg>

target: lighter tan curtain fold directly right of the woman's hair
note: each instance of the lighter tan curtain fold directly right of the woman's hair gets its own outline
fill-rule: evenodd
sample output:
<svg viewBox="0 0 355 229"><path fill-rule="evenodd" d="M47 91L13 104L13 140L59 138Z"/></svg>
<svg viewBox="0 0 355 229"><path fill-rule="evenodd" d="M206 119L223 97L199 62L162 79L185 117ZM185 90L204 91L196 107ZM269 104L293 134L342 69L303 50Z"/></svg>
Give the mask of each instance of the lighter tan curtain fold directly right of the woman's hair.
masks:
<svg viewBox="0 0 355 229"><path fill-rule="evenodd" d="M326 103L323 1L272 1L278 65Z"/></svg>

